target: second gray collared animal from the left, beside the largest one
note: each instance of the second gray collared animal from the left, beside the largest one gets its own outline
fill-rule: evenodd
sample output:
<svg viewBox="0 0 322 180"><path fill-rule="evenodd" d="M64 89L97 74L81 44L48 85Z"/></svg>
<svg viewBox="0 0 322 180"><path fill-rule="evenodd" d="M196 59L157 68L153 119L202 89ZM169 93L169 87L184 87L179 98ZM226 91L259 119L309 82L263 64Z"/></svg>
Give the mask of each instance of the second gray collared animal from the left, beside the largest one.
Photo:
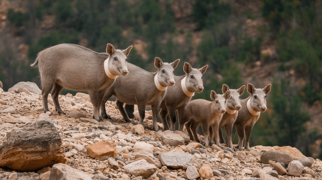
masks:
<svg viewBox="0 0 322 180"><path fill-rule="evenodd" d="M145 117L145 106L151 105L153 115L153 129L158 131L156 125L157 112L160 103L166 95L166 91L160 91L154 83L154 76L158 73L158 82L161 86L173 86L175 84L173 71L178 65L180 59L173 63L163 63L158 57L155 58L154 65L158 68L155 73L148 72L134 64L128 63L128 75L126 78L118 77L115 83L105 92L101 104L101 113L103 118L109 118L105 110L105 102L114 95L117 100L117 106L123 118L131 122L123 107L124 103L137 104L140 115L139 124L143 124Z"/></svg>

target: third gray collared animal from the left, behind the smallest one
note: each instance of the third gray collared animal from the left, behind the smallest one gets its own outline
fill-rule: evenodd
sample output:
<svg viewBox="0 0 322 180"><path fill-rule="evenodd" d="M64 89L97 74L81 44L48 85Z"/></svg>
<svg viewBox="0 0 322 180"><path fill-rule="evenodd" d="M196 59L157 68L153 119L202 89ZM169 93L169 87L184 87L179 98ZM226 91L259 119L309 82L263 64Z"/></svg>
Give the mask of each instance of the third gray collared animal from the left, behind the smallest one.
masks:
<svg viewBox="0 0 322 180"><path fill-rule="evenodd" d="M166 115L169 113L171 119L171 131L175 131L175 110L178 110L179 130L183 131L182 119L184 116L184 110L191 97L187 96L181 87L181 80L186 77L186 88L189 92L202 92L204 90L202 74L206 72L208 65L200 69L192 68L189 63L185 63L183 70L186 73L183 76L175 76L175 84L168 87L166 90L166 96L162 100L160 105L160 118L163 123L164 130L169 130L168 123L166 121ZM181 126L180 126L181 125Z"/></svg>

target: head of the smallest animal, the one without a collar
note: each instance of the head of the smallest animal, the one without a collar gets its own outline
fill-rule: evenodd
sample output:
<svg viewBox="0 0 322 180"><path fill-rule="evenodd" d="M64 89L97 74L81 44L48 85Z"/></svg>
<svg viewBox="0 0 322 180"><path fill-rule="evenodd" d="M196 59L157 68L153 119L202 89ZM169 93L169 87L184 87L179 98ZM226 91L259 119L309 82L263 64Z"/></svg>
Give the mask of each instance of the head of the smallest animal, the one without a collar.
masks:
<svg viewBox="0 0 322 180"><path fill-rule="evenodd" d="M210 98L213 99L213 111L215 113L225 113L226 108L225 108L225 101L230 98L230 90L227 90L224 94L216 94L215 91L211 91Z"/></svg>

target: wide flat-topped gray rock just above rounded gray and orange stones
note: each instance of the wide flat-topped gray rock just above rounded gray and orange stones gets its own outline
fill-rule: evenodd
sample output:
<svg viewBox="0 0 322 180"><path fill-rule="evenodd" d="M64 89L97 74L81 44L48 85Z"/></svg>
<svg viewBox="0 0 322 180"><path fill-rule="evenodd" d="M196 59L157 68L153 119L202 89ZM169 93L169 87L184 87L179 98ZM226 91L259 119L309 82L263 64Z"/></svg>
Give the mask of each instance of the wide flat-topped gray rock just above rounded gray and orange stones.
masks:
<svg viewBox="0 0 322 180"><path fill-rule="evenodd" d="M164 152L159 155L159 160L166 167L173 169L183 168L194 158L193 155L185 152Z"/></svg>

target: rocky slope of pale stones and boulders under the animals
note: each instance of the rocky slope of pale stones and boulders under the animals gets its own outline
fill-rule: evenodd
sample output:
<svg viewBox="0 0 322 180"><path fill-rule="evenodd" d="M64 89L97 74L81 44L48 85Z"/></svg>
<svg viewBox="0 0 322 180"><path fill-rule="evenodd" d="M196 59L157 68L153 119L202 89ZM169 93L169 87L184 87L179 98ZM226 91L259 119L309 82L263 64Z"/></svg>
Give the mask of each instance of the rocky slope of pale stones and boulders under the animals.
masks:
<svg viewBox="0 0 322 180"><path fill-rule="evenodd" d="M322 179L321 160L296 148L206 148L185 133L163 132L162 124L160 131L153 131L150 112L145 128L136 120L126 123L113 102L106 104L112 120L98 123L83 93L59 96L67 115L54 111L50 96L52 113L43 113L42 97L34 89L0 91L0 180ZM47 161L57 164L48 167Z"/></svg>

